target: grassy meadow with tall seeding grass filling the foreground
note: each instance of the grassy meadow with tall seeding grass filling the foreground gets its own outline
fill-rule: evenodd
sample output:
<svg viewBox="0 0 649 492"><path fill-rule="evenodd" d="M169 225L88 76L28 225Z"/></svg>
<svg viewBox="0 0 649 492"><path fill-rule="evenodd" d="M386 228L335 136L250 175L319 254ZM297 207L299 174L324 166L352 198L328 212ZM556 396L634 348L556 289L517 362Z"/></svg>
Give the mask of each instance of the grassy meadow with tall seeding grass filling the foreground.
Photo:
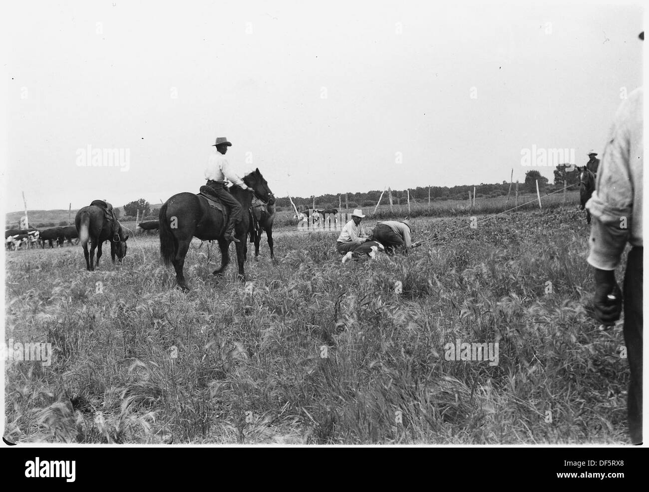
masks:
<svg viewBox="0 0 649 492"><path fill-rule="evenodd" d="M436 239L345 264L336 233L279 228L245 285L236 263L217 281L217 246L195 240L189 292L157 236L95 272L79 246L7 252L5 338L55 358L6 362L5 438L627 443L624 340L589 314L585 214L481 218L414 218L414 239ZM497 342L498 363L447 360L456 340Z"/></svg>

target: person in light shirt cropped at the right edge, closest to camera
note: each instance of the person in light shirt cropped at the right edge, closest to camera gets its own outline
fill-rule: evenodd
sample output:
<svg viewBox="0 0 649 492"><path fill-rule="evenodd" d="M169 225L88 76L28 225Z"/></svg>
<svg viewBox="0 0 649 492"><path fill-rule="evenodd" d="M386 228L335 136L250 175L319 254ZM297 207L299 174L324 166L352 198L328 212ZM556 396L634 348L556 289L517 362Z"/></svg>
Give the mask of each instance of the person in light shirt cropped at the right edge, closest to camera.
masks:
<svg viewBox="0 0 649 492"><path fill-rule="evenodd" d="M622 292L615 280L626 243L624 343L629 361L627 401L631 443L643 441L643 88L615 113L593 196L588 263L594 267L594 315L604 325L620 319Z"/></svg>

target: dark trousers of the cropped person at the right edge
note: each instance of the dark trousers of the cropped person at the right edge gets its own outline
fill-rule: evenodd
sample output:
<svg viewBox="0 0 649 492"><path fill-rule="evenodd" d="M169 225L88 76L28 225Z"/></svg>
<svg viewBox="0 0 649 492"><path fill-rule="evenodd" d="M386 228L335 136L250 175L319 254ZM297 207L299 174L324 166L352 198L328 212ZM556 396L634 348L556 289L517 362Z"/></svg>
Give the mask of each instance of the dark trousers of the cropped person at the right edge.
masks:
<svg viewBox="0 0 649 492"><path fill-rule="evenodd" d="M643 248L633 248L624 274L624 343L631 372L626 404L631 442L643 441Z"/></svg>

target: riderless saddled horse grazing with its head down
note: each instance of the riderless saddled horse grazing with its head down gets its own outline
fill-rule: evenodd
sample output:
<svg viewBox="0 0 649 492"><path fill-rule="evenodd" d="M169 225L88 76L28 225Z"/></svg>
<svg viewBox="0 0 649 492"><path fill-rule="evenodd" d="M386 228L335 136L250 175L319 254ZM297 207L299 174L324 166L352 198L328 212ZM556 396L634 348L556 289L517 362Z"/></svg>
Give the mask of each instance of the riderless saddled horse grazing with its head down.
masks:
<svg viewBox="0 0 649 492"><path fill-rule="evenodd" d="M95 257L95 248L97 248L97 266L101 258L101 245L105 240L110 241L110 257L115 263L115 257L121 263L126 256L129 236L124 233L124 229L118 220L109 220L106 217L106 211L98 205L88 205L77 212L75 217L75 226L79 232L79 241L83 248L83 254L86 257L86 268L92 272L95 270L93 259ZM90 253L88 253L88 241L90 240Z"/></svg>

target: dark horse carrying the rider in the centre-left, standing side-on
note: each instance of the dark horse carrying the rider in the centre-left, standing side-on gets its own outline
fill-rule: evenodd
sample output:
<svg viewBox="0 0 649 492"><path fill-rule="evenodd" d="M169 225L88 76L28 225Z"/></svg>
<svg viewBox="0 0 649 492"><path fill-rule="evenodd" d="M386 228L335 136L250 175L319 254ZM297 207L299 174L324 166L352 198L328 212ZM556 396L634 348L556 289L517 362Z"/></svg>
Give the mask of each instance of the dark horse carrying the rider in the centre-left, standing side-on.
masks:
<svg viewBox="0 0 649 492"><path fill-rule="evenodd" d="M254 170L243 178L243 182L252 188L244 191L238 186L232 186L230 192L238 200L243 209L243 219L234 229L234 235L239 240L236 243L239 278L245 280L243 261L246 240L250 229L250 214L247 211L252 204L252 194L262 202L271 200L273 193L263 178L259 169ZM160 257L166 266L173 264L176 270L178 287L186 289L182 268L185 256L190 248L192 237L198 239L217 240L221 249L221 266L214 270L214 275L221 275L230 263L228 247L230 242L223 239L225 222L223 213L210 208L202 196L193 193L178 193L169 198L160 208Z"/></svg>

